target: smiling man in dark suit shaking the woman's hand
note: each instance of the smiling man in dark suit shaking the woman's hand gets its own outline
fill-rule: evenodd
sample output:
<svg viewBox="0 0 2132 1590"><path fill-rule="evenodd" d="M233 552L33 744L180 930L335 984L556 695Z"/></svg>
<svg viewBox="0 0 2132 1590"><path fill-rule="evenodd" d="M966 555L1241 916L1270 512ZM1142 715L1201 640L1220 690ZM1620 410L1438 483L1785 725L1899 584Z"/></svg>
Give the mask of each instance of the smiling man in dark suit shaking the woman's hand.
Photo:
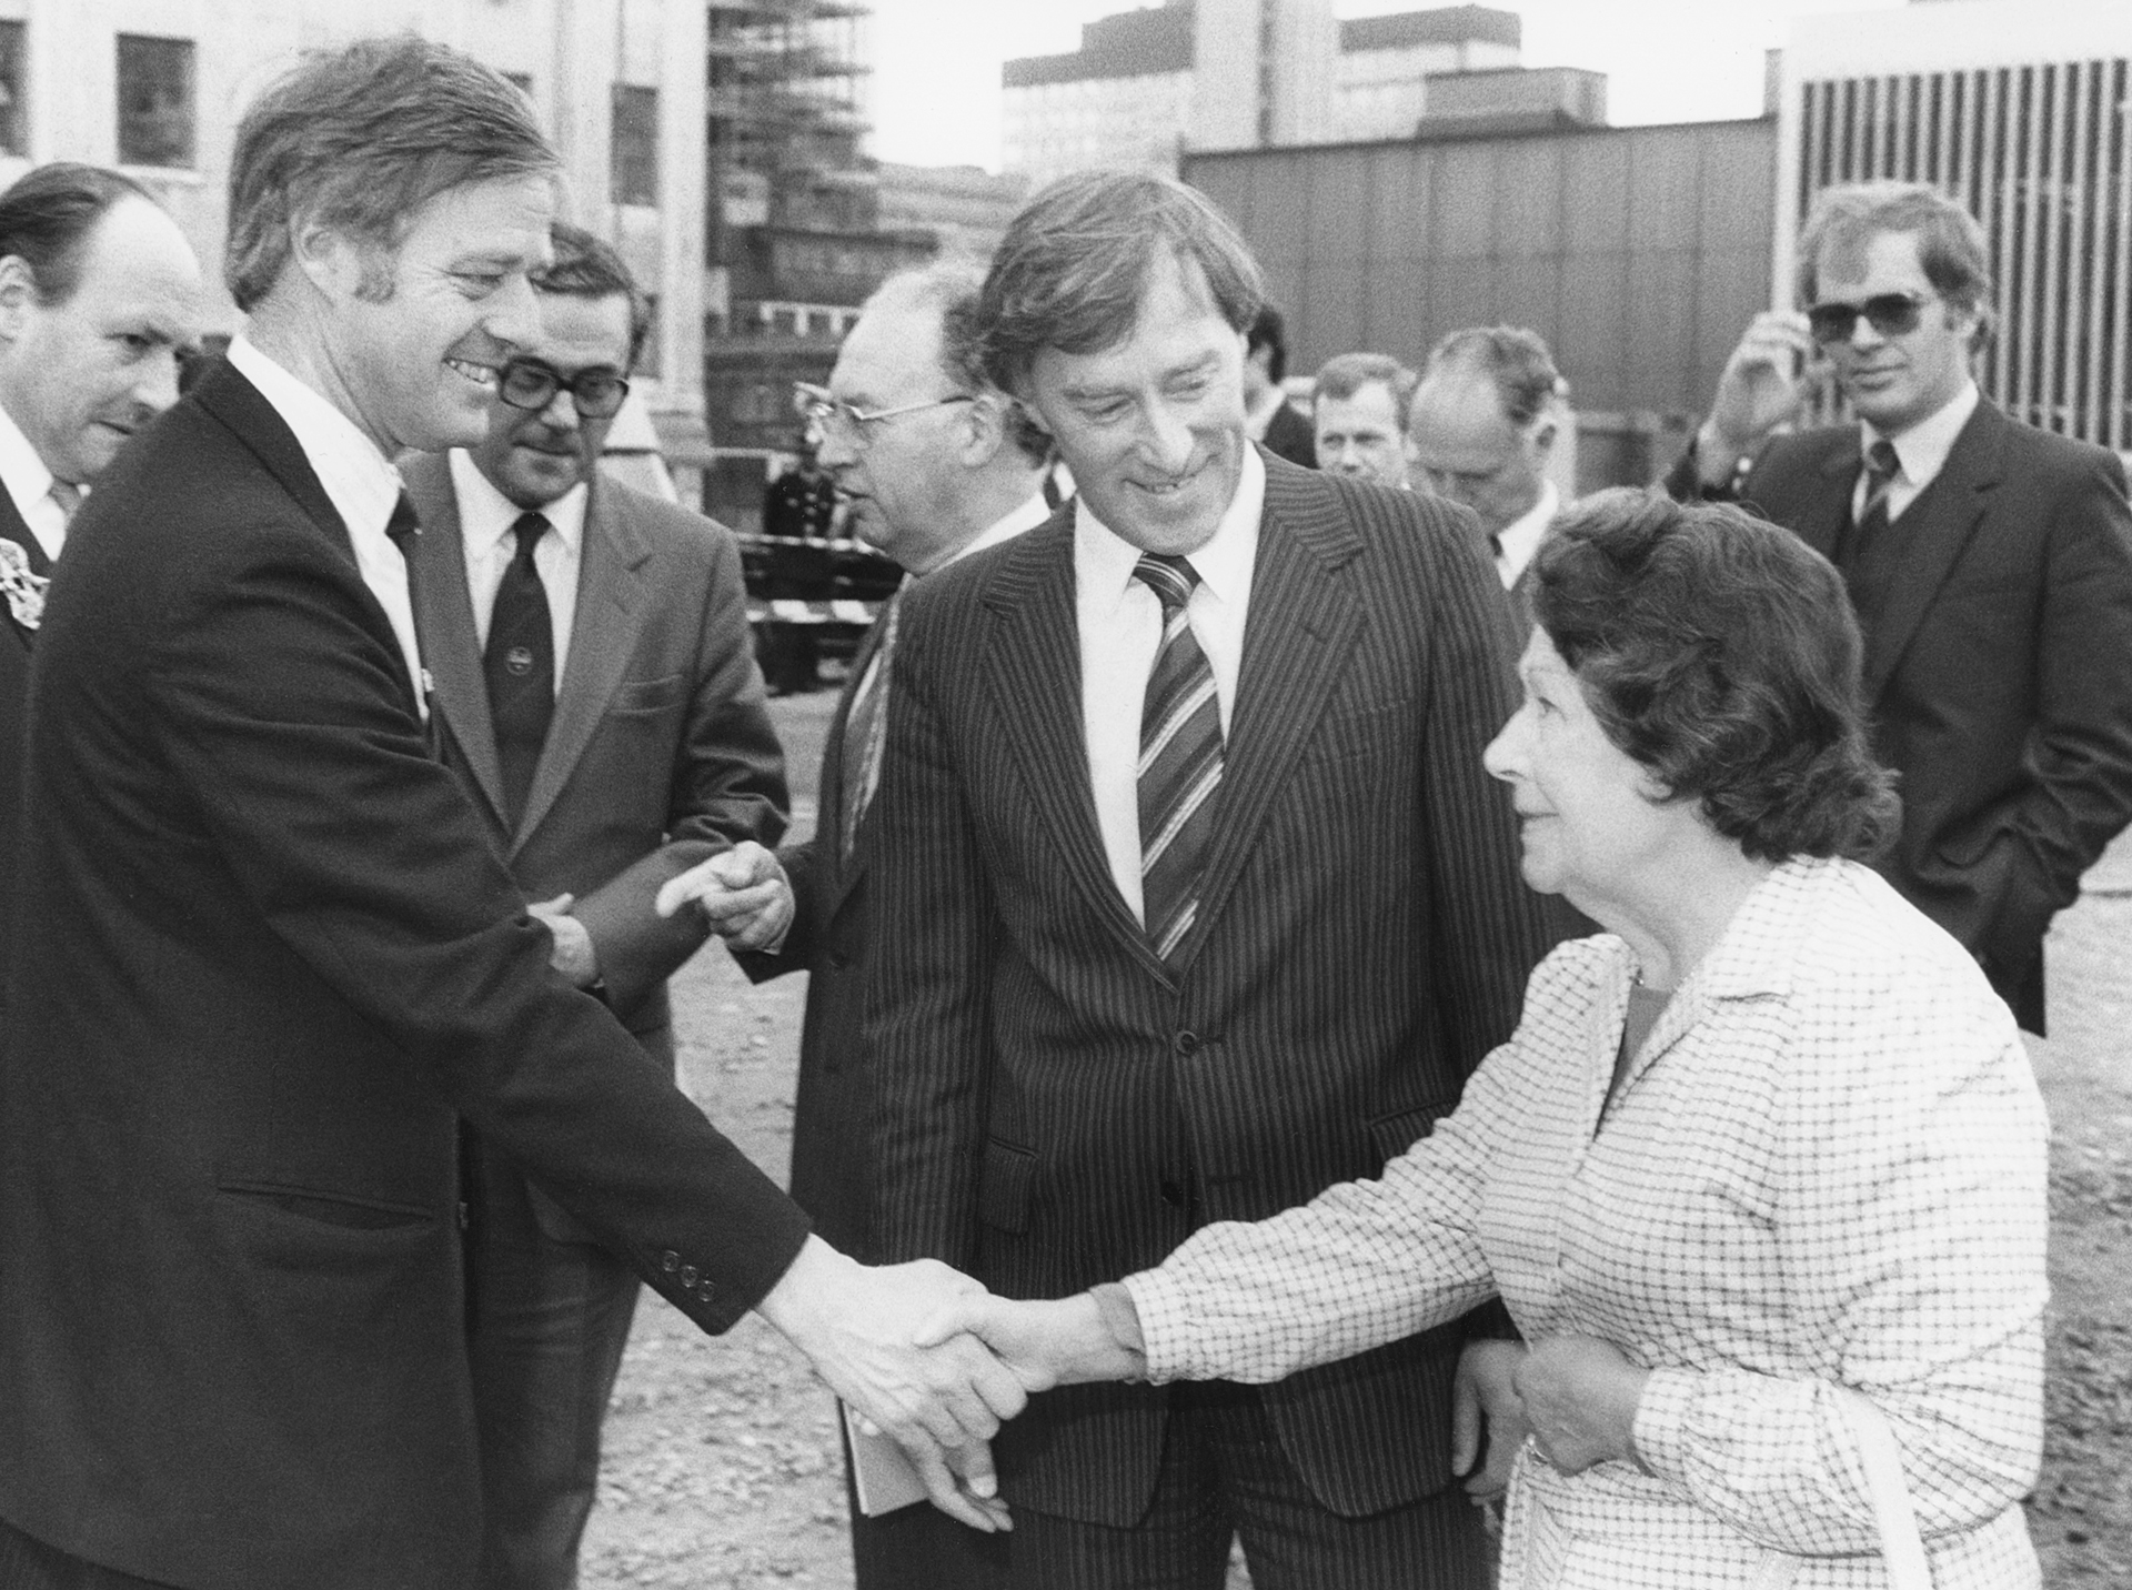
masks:
<svg viewBox="0 0 2132 1590"><path fill-rule="evenodd" d="M1019 1388L910 1345L955 1283L808 1232L554 976L431 755L390 458L484 435L552 220L507 81L411 34L309 58L237 130L245 335L72 524L0 1064L0 1584L473 1581L461 1117L983 1518L940 1443Z"/></svg>

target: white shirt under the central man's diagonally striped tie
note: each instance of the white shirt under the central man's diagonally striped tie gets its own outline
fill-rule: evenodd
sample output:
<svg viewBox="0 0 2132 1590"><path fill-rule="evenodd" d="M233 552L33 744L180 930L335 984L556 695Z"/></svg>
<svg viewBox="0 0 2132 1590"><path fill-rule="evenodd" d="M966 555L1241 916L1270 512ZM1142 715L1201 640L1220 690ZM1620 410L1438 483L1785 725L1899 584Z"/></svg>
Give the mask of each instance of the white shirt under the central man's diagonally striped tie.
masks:
<svg viewBox="0 0 2132 1590"><path fill-rule="evenodd" d="M1258 448L1243 450L1243 473L1213 539L1188 554L1200 582L1185 605L1185 622L1213 669L1222 705L1222 737L1237 708L1237 671L1243 667L1243 620L1251 605L1251 569L1258 565L1258 520L1266 505L1266 465ZM1117 893L1145 923L1141 904L1141 708L1147 676L1162 646L1162 603L1132 578L1141 548L1075 505L1072 569L1081 616L1081 725L1087 735L1087 782L1096 795L1096 825L1111 861Z"/></svg>

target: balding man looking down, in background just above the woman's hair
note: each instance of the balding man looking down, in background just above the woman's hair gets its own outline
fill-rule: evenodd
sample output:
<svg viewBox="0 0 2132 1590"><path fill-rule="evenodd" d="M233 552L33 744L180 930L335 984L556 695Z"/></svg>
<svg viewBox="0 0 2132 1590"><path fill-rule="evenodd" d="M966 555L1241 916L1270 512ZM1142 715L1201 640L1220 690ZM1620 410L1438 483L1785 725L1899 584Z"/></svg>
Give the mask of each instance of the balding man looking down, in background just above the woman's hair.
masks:
<svg viewBox="0 0 2132 1590"><path fill-rule="evenodd" d="M1539 332L1522 326L1454 330L1428 350L1414 394L1409 428L1420 482L1480 518L1520 631L1531 629L1520 582L1561 512L1548 458L1567 401L1569 384L1554 369L1554 354Z"/></svg>

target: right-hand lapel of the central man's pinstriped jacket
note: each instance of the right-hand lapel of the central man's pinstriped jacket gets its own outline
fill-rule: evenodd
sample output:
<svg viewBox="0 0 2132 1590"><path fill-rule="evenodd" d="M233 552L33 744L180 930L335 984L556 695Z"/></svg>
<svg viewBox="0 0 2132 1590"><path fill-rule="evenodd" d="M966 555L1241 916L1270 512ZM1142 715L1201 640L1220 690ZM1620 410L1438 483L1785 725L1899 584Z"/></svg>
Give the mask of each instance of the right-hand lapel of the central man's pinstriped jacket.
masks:
<svg viewBox="0 0 2132 1590"><path fill-rule="evenodd" d="M1211 931L1258 848L1273 797L1332 703L1362 616L1347 582L1330 575L1360 550L1362 541L1339 512L1330 484L1313 473L1266 471L1213 861L1200 887L1198 921L1179 948L1179 966Z"/></svg>

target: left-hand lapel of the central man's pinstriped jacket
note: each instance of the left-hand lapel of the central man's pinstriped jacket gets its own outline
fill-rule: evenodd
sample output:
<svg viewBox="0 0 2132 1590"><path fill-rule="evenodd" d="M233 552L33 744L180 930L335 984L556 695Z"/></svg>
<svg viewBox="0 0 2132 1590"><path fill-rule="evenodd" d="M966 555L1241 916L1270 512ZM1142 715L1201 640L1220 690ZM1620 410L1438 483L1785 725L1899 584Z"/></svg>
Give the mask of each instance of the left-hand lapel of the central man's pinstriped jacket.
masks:
<svg viewBox="0 0 2132 1590"><path fill-rule="evenodd" d="M1021 765L1036 821L1051 829L1072 882L1156 976L1168 970L1126 910L1096 823L1081 725L1081 624L1075 614L1072 509L1017 537L985 590L996 614L979 676Z"/></svg>

